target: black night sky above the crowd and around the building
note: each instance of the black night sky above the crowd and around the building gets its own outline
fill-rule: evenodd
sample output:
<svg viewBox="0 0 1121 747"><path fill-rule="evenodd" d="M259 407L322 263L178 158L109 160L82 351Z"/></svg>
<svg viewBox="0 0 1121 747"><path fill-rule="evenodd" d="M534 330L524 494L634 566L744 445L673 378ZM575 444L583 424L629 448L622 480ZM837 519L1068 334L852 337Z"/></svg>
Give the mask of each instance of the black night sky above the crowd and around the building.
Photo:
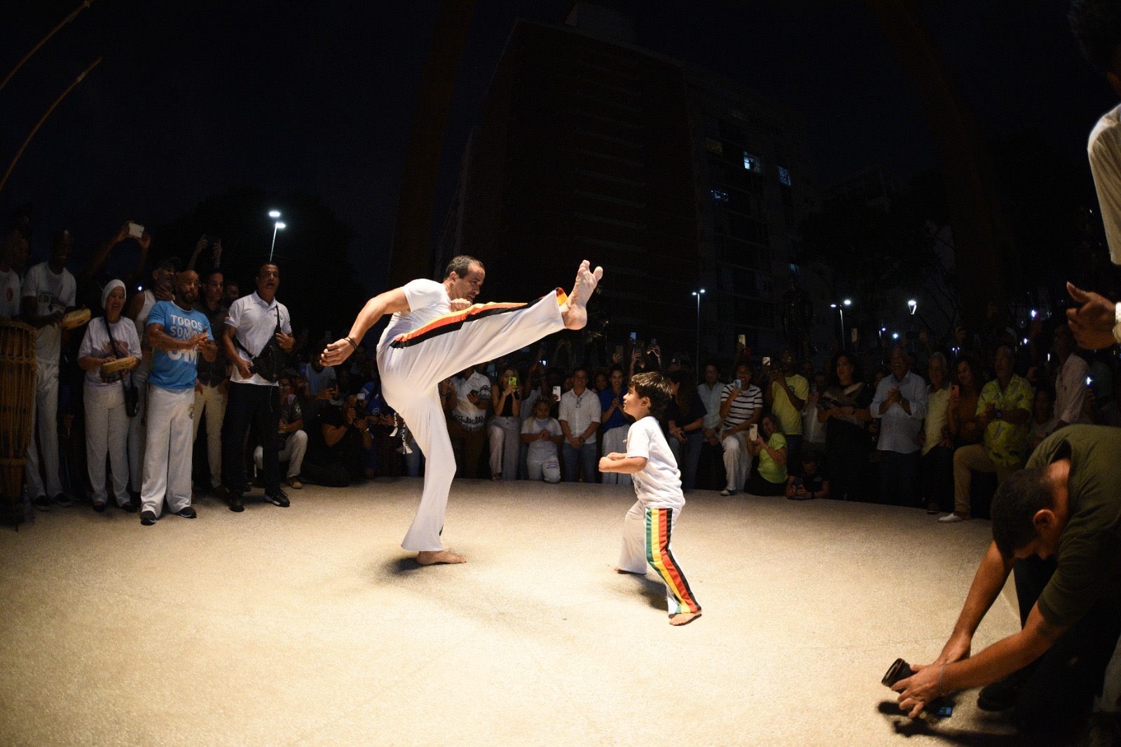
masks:
<svg viewBox="0 0 1121 747"><path fill-rule="evenodd" d="M0 3L0 74L77 6ZM567 4L479 0L444 143L437 226L515 20L558 22ZM819 184L873 162L900 177L935 165L906 76L861 2L602 4L636 18L640 45L738 78L800 112ZM1037 130L1088 183L1086 136L1115 101L1078 53L1066 0L920 7L984 134ZM128 217L156 226L239 185L308 192L356 231L350 259L368 291L378 292L437 12L436 2L404 0L95 0L0 91L0 167L7 168L58 93L104 57L31 141L0 193L0 215L35 203L33 261L44 256L54 228L71 226L76 270ZM262 241L271 235L263 215L261 232ZM157 235L154 253L186 255L189 248L160 246ZM286 287L294 290L290 281Z"/></svg>

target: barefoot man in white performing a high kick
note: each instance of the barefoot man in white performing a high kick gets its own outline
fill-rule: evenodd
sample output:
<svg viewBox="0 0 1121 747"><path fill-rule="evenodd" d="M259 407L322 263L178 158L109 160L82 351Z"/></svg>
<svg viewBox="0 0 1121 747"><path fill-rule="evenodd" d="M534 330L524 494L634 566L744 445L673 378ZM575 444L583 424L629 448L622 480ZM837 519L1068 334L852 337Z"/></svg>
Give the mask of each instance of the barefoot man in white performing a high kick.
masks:
<svg viewBox="0 0 1121 747"><path fill-rule="evenodd" d="M530 304L474 304L485 270L473 256L452 258L444 282L414 280L367 301L350 334L323 352L325 365L339 365L378 319L392 314L378 342L378 370L386 401L405 418L427 458L424 494L401 547L417 551L421 566L462 563L444 550L447 493L455 456L447 435L437 384L481 361L526 347L560 329L587 324L587 299L603 277L587 260L576 271L572 293L557 289Z"/></svg>

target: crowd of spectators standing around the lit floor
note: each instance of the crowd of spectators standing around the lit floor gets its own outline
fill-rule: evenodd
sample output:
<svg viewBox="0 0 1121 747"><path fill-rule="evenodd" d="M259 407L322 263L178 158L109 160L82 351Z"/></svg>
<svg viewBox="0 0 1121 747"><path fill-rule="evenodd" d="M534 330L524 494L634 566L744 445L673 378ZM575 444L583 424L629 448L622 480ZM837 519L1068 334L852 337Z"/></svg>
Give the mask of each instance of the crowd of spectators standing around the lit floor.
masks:
<svg viewBox="0 0 1121 747"><path fill-rule="evenodd" d="M105 278L109 253L128 240L140 246L136 271L123 282ZM174 309L158 305L177 298L183 311L189 307L205 318L206 337L217 343L216 355L192 358L194 491L239 511L253 483L284 506L285 489L304 482L345 486L418 476L423 455L381 396L373 356L360 346L345 366L324 366L322 340L291 338L287 309L275 298L279 268L262 265L257 290L240 296L223 276L219 244L207 253L213 267L193 288L179 288L185 273L195 277L205 242L187 267L168 258L146 270L150 237L130 235L126 223L75 278L66 270L68 232L59 231L46 261L31 267L25 267L22 227L12 224L4 234L0 316L38 330L37 428L26 479L35 507L78 497L101 510L110 494L126 511L140 507L150 431L169 428L146 417L148 400L159 393L150 381L158 347L150 315L167 318ZM141 277L145 286L129 295ZM63 329L64 315L78 305L89 305L93 319ZM251 329L254 314L266 323ZM626 450L622 396L630 376L661 370L674 392L663 429L686 492L923 506L953 523L984 515L995 486L1054 430L1074 422L1121 424L1117 360L1077 349L1065 323L1054 321L1035 324L1023 345L1015 344L1019 333L971 336L958 328L942 342L923 332L878 349L836 352L822 367L798 360L795 347L780 347L729 366L706 362L700 381L684 355L664 364L657 343L624 340L610 365L599 367L573 363L565 344L548 365L543 345L534 357L480 362L442 382L437 394L457 476L629 484L629 475L601 474L597 459ZM155 330L163 335L161 327ZM287 368L267 381L249 363L274 336L285 343ZM196 340L192 351L205 344ZM136 367L105 370L129 355L139 358ZM139 401L129 415L124 400L132 385ZM167 449L167 433L155 442ZM182 510L184 498L176 501Z"/></svg>

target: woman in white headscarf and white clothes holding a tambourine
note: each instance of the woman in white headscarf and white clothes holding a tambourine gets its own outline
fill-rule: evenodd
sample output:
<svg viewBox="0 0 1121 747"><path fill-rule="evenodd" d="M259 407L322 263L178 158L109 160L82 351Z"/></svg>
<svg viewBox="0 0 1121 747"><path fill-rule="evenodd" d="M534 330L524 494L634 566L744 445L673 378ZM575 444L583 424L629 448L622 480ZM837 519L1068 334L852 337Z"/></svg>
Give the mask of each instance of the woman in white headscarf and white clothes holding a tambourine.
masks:
<svg viewBox="0 0 1121 747"><path fill-rule="evenodd" d="M77 364L85 371L85 454L93 487L93 510L104 511L109 497L105 489L105 454L113 473L117 505L136 512L129 496L128 433L129 418L124 412L124 385L129 372L106 373L106 363L130 355L140 355L140 339L131 319L121 320L124 309L124 283L110 280L101 292L105 316L94 319L85 330L78 348Z"/></svg>

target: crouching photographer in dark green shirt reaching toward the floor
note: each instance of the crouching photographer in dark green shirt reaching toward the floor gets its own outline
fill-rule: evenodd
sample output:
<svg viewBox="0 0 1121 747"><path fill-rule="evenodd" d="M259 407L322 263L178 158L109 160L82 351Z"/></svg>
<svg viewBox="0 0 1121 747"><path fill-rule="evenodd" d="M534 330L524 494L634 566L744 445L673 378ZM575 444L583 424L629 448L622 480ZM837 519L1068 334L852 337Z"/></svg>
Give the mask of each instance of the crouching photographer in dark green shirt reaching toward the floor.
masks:
<svg viewBox="0 0 1121 747"><path fill-rule="evenodd" d="M917 717L932 700L983 687L982 710L1013 710L1025 732L1069 734L1094 719L1117 734L1121 633L1121 430L1069 426L1044 440L992 501L993 542L942 654L892 685ZM1015 570L1022 629L970 655L973 634ZM1103 690L1104 680L1104 690Z"/></svg>

